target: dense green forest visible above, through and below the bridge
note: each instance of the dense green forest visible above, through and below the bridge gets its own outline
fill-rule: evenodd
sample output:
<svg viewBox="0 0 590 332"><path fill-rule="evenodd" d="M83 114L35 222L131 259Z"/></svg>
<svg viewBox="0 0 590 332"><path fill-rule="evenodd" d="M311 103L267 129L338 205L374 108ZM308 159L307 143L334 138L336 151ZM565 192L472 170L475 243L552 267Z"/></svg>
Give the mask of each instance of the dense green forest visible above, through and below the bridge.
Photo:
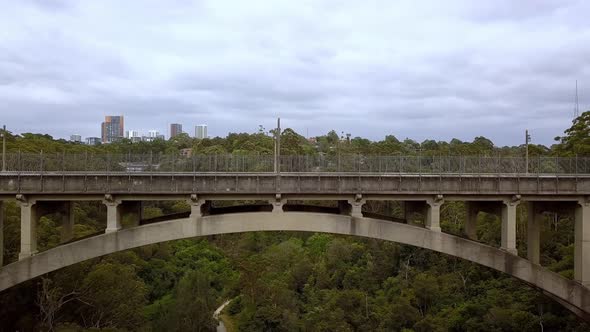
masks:
<svg viewBox="0 0 590 332"><path fill-rule="evenodd" d="M531 145L531 156L590 156L590 111L573 121L551 147ZM85 146L49 135L9 133L9 152L272 154L274 132L227 137ZM445 154L522 156L524 146L497 147L485 137L450 142L386 136L382 141L331 131L315 141L291 129L282 154ZM236 202L239 204L239 202ZM371 202L369 212L403 217L403 206ZM20 212L6 202L5 264L18 256ZM152 202L144 217L184 212L184 201ZM100 202L75 204L74 233L105 228ZM445 232L464 232L465 206L447 202ZM518 208L517 245L526 257L526 206ZM416 215L416 223L422 216ZM500 242L501 223L481 213L478 239ZM38 225L39 250L60 241L59 216ZM125 220L123 224L125 225ZM573 222L546 215L541 264L573 276ZM0 293L0 331L214 331L213 311L229 331L588 331L556 302L511 277L453 257L396 243L292 232L230 234L160 243L92 259Z"/></svg>

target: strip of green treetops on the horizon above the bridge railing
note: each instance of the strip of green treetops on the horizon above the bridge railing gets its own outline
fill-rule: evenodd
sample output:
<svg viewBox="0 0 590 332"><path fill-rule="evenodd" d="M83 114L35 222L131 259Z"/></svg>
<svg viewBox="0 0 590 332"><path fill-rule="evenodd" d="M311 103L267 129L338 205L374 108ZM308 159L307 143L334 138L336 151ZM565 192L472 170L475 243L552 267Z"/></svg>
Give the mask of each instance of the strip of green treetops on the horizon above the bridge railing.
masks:
<svg viewBox="0 0 590 332"><path fill-rule="evenodd" d="M529 144L529 156L590 156L590 111L582 113L573 120L572 126L564 131L564 136L555 137L556 144L547 147L542 144ZM151 142L132 143L129 139L89 146L54 139L48 134L6 133L7 152L38 153L163 153L178 154L180 150L191 148L193 154L273 154L274 129L266 132L263 128L255 133L229 133L226 137L205 139L191 138L182 133L169 140L156 139ZM394 135L386 135L383 140L372 141L350 135L339 136L331 130L326 135L315 137L312 143L291 128L281 131L282 155L314 154L363 154L363 155L524 155L525 144L518 146L496 146L490 139L478 136L472 142L453 138L450 141L432 139L417 142L406 138L399 140Z"/></svg>

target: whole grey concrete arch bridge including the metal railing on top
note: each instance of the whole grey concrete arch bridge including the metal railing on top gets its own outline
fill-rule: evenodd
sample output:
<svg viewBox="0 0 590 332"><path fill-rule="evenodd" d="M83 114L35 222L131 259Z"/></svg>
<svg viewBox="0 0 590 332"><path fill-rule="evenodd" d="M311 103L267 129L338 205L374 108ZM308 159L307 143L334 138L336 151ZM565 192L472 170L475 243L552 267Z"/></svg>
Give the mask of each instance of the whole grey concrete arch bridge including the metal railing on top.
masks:
<svg viewBox="0 0 590 332"><path fill-rule="evenodd" d="M93 257L162 241L249 231L309 231L394 241L466 259L523 280L580 317L590 317L590 160L273 158L9 155L7 170L0 172L0 201L16 199L20 204L21 241L19 260L0 268L0 291ZM186 200L191 211L143 220L142 202L162 200ZM76 201L106 206L104 234L69 242ZM220 208L215 203L221 201L250 204ZM315 201L331 202L333 207L309 204ZM406 216L396 220L367 213L362 207L368 201L403 202ZM463 237L441 231L441 206L449 201L466 203ZM526 259L518 256L516 247L519 204L526 204L528 211ZM38 219L55 212L62 215L64 244L38 252ZM424 216L423 225L412 222L410 215L416 212ZM501 219L499 248L477 242L479 212ZM575 280L539 264L543 212L575 219ZM132 219L132 225L123 228L123 216Z"/></svg>

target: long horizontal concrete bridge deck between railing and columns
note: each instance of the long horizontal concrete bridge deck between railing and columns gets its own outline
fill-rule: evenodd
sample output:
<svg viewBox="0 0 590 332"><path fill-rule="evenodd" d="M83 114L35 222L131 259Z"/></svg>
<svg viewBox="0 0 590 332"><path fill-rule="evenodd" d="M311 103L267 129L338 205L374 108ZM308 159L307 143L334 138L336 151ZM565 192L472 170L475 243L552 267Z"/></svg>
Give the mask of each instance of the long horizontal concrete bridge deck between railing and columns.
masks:
<svg viewBox="0 0 590 332"><path fill-rule="evenodd" d="M0 194L589 195L590 174L2 172Z"/></svg>

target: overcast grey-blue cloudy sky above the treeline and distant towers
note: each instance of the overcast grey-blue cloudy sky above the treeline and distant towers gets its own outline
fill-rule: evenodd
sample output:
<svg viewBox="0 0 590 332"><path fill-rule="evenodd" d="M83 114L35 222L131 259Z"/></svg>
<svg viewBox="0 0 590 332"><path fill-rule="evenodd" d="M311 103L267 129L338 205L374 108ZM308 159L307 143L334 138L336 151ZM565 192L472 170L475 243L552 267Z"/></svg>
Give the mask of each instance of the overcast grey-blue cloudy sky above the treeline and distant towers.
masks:
<svg viewBox="0 0 590 332"><path fill-rule="evenodd" d="M284 127L552 144L578 80L590 1L0 0L0 124L16 133L194 135Z"/></svg>

